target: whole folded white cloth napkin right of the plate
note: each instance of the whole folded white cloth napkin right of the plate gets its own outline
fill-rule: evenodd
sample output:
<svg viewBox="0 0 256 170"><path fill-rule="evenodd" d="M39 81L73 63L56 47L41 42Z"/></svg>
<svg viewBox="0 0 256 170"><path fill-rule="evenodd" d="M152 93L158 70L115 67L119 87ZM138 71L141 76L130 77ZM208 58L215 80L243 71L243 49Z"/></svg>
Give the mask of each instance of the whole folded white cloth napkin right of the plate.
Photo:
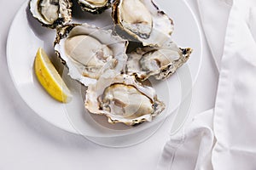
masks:
<svg viewBox="0 0 256 170"><path fill-rule="evenodd" d="M171 137L158 169L256 169L256 1L198 3L220 71L216 104Z"/></svg>

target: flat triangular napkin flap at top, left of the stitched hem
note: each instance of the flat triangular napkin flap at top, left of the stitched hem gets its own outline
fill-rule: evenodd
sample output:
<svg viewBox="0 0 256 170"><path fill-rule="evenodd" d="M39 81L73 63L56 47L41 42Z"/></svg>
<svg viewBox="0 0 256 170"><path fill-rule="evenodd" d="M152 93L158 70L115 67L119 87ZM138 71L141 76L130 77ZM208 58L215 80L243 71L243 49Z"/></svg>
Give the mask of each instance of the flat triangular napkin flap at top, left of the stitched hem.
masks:
<svg viewBox="0 0 256 170"><path fill-rule="evenodd" d="M197 4L201 25L219 71L232 0L197 0Z"/></svg>

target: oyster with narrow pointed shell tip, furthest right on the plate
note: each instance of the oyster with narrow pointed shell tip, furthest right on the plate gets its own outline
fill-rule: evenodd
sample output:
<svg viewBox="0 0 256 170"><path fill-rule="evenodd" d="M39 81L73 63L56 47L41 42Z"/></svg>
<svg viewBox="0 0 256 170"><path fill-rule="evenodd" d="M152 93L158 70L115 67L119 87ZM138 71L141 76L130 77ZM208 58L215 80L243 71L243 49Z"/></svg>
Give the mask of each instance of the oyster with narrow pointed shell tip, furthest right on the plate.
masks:
<svg viewBox="0 0 256 170"><path fill-rule="evenodd" d="M142 81L150 76L158 80L165 79L177 71L191 53L191 48L178 48L174 42L168 42L162 47L137 48L128 54L127 73Z"/></svg>

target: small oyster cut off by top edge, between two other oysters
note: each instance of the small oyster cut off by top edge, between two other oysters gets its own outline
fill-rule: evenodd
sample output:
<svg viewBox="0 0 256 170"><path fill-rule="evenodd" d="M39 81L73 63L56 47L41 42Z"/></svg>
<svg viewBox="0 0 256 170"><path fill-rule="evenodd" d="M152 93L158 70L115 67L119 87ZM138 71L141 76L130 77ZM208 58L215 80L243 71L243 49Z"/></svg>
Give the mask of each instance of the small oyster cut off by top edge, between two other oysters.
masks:
<svg viewBox="0 0 256 170"><path fill-rule="evenodd" d="M110 0L78 0L78 2L84 11L92 14L101 14L111 6Z"/></svg>

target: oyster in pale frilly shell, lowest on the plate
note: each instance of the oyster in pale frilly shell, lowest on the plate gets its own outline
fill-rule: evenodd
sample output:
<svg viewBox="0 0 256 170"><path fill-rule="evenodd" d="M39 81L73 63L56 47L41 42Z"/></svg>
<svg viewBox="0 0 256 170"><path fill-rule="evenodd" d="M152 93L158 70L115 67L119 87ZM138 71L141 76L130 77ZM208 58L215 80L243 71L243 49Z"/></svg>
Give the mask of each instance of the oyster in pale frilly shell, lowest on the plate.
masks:
<svg viewBox="0 0 256 170"><path fill-rule="evenodd" d="M91 113L108 116L108 122L126 125L151 122L165 109L154 88L143 86L133 76L116 76L113 71L107 71L88 87L84 105Z"/></svg>

